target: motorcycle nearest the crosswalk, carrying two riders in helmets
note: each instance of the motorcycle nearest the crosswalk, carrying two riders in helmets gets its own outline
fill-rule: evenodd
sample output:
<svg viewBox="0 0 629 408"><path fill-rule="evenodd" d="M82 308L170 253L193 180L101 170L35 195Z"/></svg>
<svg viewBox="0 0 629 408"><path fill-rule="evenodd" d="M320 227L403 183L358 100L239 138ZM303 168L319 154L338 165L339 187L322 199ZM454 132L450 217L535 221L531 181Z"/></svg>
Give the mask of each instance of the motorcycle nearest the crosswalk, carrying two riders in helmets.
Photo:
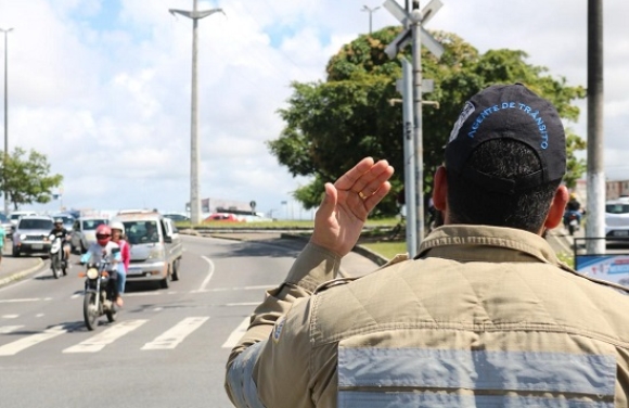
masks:
<svg viewBox="0 0 629 408"><path fill-rule="evenodd" d="M84 320L88 330L94 330L97 319L103 315L107 321L116 321L116 309L114 306L114 292L110 283L111 262L106 255L97 264L88 264L85 273L79 276L86 277L85 297L84 297Z"/></svg>

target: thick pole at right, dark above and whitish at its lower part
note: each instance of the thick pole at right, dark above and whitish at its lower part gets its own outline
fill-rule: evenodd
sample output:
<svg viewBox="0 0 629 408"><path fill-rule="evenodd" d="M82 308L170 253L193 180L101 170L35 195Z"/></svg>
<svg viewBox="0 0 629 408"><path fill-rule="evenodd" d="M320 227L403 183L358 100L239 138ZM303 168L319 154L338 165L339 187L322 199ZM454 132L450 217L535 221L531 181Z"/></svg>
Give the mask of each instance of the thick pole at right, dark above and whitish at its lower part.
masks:
<svg viewBox="0 0 629 408"><path fill-rule="evenodd" d="M605 253L603 135L603 0L588 0L588 222L589 254Z"/></svg>

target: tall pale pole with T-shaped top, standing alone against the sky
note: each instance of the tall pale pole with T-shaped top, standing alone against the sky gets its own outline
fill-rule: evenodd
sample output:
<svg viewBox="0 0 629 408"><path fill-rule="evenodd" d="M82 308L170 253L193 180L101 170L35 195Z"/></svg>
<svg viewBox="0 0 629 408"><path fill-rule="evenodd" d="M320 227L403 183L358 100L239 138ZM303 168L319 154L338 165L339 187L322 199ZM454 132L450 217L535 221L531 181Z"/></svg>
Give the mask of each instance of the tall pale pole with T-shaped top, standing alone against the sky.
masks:
<svg viewBox="0 0 629 408"><path fill-rule="evenodd" d="M197 0L194 0L192 11L168 9L170 14L181 14L192 20L192 102L191 102L191 137L190 137L190 222L198 225L201 222L201 201L198 196L200 181L200 153L198 153L198 87L196 82L197 72L197 28L198 21L214 13L223 13L221 9L210 9L197 11Z"/></svg>

